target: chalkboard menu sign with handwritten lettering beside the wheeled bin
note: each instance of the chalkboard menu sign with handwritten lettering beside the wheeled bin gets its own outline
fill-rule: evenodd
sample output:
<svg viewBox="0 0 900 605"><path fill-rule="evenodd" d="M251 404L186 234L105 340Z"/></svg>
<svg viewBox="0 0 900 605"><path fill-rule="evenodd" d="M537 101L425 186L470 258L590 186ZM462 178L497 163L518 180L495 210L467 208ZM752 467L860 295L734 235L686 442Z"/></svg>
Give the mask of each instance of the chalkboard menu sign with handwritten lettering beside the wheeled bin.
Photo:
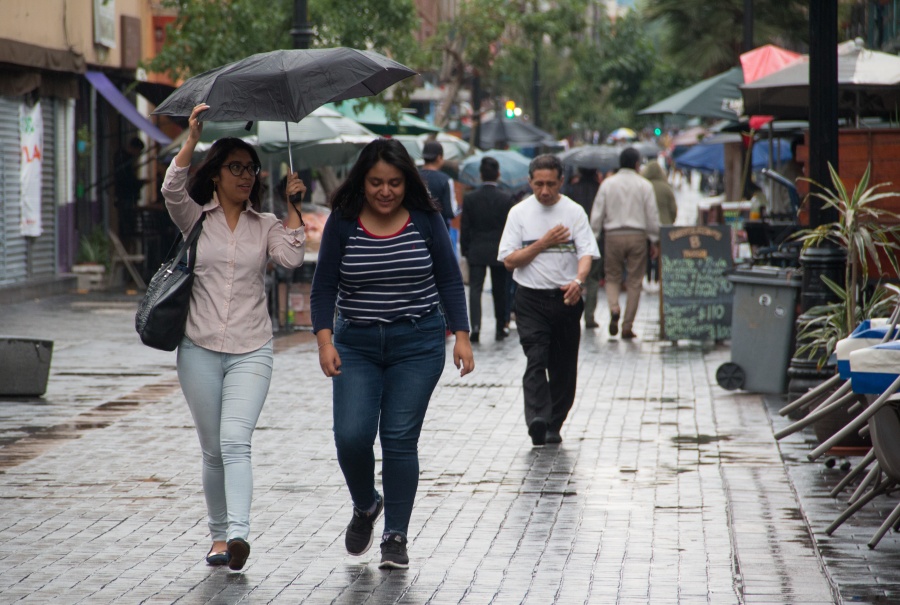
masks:
<svg viewBox="0 0 900 605"><path fill-rule="evenodd" d="M662 227L659 239L663 339L731 338L731 227Z"/></svg>

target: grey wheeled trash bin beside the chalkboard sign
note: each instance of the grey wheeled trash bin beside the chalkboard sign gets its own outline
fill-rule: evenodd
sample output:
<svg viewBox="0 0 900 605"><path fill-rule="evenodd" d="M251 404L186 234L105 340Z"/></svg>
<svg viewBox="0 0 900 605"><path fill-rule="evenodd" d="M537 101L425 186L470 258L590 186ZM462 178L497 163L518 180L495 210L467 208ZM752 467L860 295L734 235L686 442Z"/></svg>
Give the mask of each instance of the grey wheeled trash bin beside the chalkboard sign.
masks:
<svg viewBox="0 0 900 605"><path fill-rule="evenodd" d="M716 382L730 391L784 393L794 353L800 270L759 266L736 269L727 277L734 284L731 362L719 366Z"/></svg>

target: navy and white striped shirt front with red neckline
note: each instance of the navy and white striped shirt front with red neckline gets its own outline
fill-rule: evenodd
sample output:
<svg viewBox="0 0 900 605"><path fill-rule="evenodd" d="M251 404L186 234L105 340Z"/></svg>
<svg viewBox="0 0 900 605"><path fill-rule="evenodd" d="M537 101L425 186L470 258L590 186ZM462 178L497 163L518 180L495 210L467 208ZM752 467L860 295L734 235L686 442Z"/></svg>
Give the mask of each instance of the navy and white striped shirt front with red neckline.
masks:
<svg viewBox="0 0 900 605"><path fill-rule="evenodd" d="M415 224L379 236L356 222L341 259L337 308L354 323L423 317L440 302L431 254Z"/></svg>

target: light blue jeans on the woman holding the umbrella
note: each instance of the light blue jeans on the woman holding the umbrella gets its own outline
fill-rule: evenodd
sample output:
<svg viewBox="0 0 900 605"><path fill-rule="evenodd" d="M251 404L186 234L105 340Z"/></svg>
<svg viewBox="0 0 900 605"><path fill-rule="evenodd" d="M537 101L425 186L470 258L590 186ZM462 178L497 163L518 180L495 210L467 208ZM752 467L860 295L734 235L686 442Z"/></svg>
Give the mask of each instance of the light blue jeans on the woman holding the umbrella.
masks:
<svg viewBox="0 0 900 605"><path fill-rule="evenodd" d="M217 353L187 337L178 346L178 381L203 452L203 493L214 541L250 534L250 439L269 392L272 341L250 353Z"/></svg>

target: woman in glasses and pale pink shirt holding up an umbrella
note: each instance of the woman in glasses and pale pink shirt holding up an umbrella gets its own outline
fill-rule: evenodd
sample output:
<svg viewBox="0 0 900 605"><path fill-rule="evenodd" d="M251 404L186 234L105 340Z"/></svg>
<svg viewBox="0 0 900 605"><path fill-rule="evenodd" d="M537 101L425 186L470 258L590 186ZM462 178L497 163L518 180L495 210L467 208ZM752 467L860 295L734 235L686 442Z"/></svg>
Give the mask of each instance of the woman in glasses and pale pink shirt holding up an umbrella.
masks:
<svg viewBox="0 0 900 605"><path fill-rule="evenodd" d="M244 141L216 141L188 182L206 104L188 120L188 138L162 186L172 221L187 236L205 215L197 240L195 280L177 369L203 452L203 493L213 544L210 565L242 569L250 556L253 469L250 441L272 377L272 322L266 262L303 262L306 234L289 204L284 221L260 213L260 163ZM297 175L287 193L306 190Z"/></svg>

